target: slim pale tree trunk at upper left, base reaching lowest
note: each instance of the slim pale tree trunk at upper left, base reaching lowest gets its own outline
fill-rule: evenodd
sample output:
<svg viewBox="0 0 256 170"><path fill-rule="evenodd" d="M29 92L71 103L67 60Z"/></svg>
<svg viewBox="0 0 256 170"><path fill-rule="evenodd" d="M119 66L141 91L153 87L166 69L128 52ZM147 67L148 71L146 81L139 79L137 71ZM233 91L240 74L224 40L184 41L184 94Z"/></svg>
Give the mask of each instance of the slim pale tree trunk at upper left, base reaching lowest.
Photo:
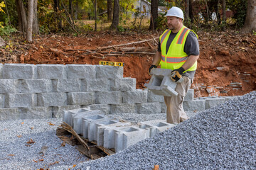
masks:
<svg viewBox="0 0 256 170"><path fill-rule="evenodd" d="M33 4L34 0L28 0L28 28L26 31L26 40L32 42L32 28L33 28Z"/></svg>

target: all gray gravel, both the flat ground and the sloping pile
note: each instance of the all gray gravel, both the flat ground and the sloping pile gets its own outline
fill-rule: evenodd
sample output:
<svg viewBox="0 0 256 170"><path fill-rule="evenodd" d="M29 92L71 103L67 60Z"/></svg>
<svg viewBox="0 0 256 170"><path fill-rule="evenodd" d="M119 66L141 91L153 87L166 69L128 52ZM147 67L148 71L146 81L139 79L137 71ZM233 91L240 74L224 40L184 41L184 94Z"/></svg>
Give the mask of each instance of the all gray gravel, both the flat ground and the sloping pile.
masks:
<svg viewBox="0 0 256 170"><path fill-rule="evenodd" d="M136 123L163 119L165 114L114 117ZM61 122L61 119L0 122L0 169L139 170L152 169L155 164L160 169L256 169L255 91L95 161L87 161L75 147L61 146L62 140L55 135ZM28 144L30 139L35 143ZM48 149L42 156L39 152L44 145Z"/></svg>

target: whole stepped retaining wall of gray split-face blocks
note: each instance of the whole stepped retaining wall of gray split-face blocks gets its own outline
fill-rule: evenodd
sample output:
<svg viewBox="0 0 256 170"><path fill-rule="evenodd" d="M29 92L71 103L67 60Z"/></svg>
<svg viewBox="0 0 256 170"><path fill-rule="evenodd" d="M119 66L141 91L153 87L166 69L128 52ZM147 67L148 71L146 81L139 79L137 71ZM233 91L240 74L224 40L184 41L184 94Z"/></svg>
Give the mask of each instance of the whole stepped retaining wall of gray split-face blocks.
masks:
<svg viewBox="0 0 256 170"><path fill-rule="evenodd" d="M185 111L203 111L228 98L193 98ZM105 114L164 113L163 96L136 89L123 67L88 64L0 64L0 120L60 118L63 111L90 106Z"/></svg>

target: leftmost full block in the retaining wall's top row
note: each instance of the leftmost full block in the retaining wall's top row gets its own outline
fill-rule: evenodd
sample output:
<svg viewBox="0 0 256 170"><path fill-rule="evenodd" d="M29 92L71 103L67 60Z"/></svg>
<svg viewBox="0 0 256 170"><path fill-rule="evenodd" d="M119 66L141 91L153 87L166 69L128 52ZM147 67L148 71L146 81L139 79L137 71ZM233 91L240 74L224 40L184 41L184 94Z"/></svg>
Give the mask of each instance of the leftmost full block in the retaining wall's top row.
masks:
<svg viewBox="0 0 256 170"><path fill-rule="evenodd" d="M36 79L35 64L4 64L4 79Z"/></svg>

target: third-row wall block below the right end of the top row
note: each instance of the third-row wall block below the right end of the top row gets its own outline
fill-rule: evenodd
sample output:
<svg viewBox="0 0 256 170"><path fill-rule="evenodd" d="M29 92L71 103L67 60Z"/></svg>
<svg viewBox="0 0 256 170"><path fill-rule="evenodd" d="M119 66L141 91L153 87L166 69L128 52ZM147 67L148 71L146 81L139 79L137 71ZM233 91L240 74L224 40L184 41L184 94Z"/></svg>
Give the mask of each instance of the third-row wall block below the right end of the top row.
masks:
<svg viewBox="0 0 256 170"><path fill-rule="evenodd" d="M96 92L97 104L119 104L122 103L121 91L99 91Z"/></svg>

